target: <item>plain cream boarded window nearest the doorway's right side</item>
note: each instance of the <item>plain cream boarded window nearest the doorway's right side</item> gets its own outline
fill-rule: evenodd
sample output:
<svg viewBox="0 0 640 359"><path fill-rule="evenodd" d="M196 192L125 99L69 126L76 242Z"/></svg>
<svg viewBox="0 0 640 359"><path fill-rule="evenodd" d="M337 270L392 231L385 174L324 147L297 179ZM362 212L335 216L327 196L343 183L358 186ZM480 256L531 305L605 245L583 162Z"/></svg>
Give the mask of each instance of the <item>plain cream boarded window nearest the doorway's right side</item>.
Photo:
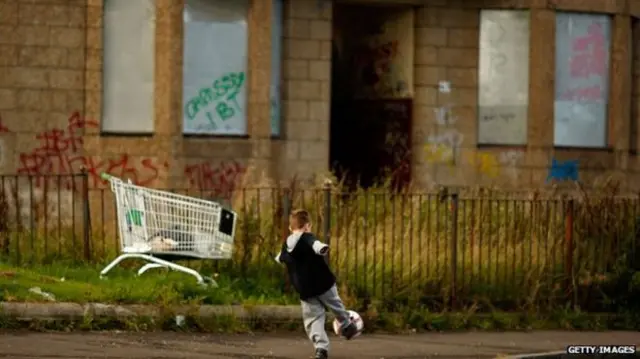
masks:
<svg viewBox="0 0 640 359"><path fill-rule="evenodd" d="M478 143L527 143L529 13L483 10L480 17Z"/></svg>

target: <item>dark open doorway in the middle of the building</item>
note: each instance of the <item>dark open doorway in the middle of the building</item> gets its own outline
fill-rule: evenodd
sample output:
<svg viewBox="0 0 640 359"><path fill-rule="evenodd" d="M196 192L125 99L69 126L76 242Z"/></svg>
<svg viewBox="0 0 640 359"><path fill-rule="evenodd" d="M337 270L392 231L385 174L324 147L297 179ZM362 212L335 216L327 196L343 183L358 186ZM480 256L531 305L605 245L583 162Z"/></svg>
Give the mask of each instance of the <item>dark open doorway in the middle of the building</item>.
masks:
<svg viewBox="0 0 640 359"><path fill-rule="evenodd" d="M412 31L412 24L402 22L407 11L334 6L330 160L350 187L384 181L403 187L411 178L412 99L402 80L408 73L402 48L413 43L403 44L397 32L388 30L406 25ZM401 76L392 73L399 66L405 67Z"/></svg>

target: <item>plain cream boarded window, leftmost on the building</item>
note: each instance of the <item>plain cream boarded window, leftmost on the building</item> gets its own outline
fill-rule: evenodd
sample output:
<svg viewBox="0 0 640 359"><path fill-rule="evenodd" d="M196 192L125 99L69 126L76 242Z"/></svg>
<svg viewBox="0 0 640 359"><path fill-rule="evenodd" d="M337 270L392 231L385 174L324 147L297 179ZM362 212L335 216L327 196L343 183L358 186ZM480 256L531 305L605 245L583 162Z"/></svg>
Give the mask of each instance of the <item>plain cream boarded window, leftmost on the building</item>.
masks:
<svg viewBox="0 0 640 359"><path fill-rule="evenodd" d="M155 10L155 0L104 1L103 132L153 132Z"/></svg>

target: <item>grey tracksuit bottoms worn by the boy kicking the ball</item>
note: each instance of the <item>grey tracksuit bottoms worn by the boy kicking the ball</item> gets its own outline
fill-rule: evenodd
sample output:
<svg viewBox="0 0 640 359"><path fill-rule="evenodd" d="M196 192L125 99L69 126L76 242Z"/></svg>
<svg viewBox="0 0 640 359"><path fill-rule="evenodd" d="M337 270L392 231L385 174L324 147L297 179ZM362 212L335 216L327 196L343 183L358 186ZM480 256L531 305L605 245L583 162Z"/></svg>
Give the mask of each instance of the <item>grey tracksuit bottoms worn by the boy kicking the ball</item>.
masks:
<svg viewBox="0 0 640 359"><path fill-rule="evenodd" d="M304 329L316 349L329 351L329 337L325 331L325 311L330 310L343 325L349 324L349 313L334 285L321 295L301 301Z"/></svg>

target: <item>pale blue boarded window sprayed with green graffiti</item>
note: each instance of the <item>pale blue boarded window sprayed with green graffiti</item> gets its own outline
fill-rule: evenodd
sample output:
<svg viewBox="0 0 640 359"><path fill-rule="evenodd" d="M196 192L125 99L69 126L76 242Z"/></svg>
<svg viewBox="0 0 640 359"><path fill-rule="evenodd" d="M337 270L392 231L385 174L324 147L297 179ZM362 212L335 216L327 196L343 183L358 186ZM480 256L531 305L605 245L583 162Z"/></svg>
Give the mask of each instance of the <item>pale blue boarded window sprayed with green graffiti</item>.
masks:
<svg viewBox="0 0 640 359"><path fill-rule="evenodd" d="M248 0L186 0L185 134L245 135Z"/></svg>

